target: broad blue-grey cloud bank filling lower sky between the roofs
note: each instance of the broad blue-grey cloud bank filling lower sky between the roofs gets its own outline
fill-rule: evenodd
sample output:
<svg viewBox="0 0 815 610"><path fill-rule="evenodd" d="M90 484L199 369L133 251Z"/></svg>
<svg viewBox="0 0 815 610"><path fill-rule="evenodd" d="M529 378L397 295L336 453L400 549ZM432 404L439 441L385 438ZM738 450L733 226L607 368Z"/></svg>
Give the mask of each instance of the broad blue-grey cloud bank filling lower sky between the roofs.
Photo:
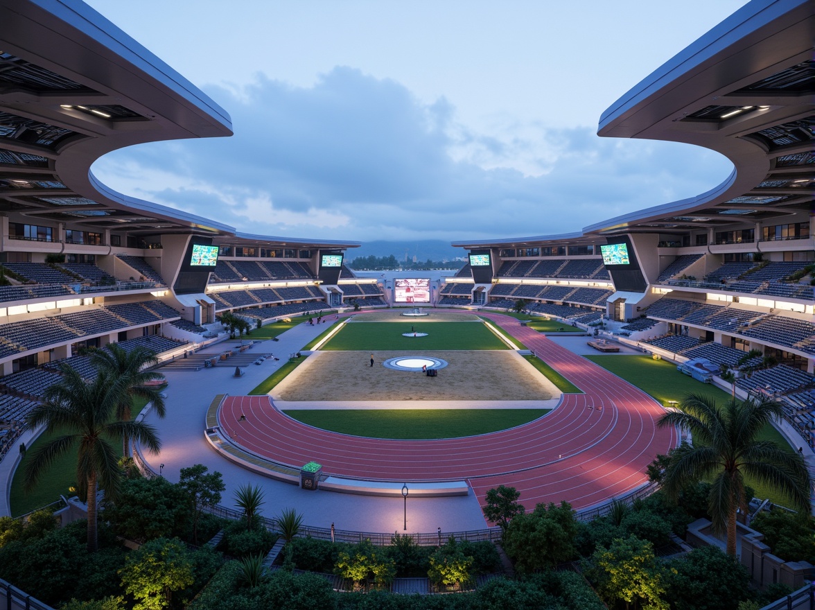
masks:
<svg viewBox="0 0 815 610"><path fill-rule="evenodd" d="M314 86L266 77L209 91L228 139L156 143L95 164L126 194L241 232L351 241L491 239L575 232L691 197L729 175L681 144L598 138L504 117L492 133L447 99L338 67Z"/></svg>

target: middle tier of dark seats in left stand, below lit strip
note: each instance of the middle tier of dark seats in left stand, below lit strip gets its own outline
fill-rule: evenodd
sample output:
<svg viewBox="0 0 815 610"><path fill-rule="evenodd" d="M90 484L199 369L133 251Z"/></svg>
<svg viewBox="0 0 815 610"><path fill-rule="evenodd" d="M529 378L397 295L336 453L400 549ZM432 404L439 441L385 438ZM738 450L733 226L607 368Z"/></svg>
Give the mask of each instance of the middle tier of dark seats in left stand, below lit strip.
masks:
<svg viewBox="0 0 815 610"><path fill-rule="evenodd" d="M82 312L11 322L0 325L0 358L180 316L173 307L156 300L93 307Z"/></svg>

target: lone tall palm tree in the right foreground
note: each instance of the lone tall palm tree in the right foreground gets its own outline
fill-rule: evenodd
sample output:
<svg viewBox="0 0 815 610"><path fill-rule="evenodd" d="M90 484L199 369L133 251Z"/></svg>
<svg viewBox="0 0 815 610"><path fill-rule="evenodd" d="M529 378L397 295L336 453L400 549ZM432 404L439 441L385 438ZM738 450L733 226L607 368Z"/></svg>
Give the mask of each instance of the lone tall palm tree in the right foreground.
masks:
<svg viewBox="0 0 815 610"><path fill-rule="evenodd" d="M713 528L727 531L729 555L736 554L736 511L747 510L745 475L785 493L800 511L809 510L811 482L804 458L758 439L765 425L782 416L780 403L729 400L720 407L713 396L689 394L680 408L665 413L659 426L685 428L698 444L683 443L671 452L663 489L676 498L688 484L712 479L708 512Z"/></svg>

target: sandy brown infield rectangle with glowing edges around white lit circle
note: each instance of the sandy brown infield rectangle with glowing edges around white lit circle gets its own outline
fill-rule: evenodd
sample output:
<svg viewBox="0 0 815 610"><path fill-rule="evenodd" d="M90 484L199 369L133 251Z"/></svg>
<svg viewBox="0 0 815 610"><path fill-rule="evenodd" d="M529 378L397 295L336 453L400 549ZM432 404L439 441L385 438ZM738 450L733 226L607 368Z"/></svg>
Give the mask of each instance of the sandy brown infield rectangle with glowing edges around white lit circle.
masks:
<svg viewBox="0 0 815 610"><path fill-rule="evenodd" d="M447 360L438 377L386 369L416 351L317 351L271 391L276 400L549 400L561 392L515 351L426 351ZM291 407L291 405L290 405Z"/></svg>

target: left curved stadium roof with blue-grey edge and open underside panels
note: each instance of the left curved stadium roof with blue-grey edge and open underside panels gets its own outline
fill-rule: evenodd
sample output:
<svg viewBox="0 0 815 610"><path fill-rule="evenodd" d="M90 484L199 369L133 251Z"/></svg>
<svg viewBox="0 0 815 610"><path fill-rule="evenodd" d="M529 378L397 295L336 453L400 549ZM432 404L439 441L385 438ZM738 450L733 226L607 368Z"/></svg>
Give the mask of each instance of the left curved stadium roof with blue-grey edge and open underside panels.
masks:
<svg viewBox="0 0 815 610"><path fill-rule="evenodd" d="M216 220L114 192L90 172L117 148L228 135L226 111L85 4L0 0L0 211L137 236L359 245L240 235Z"/></svg>

